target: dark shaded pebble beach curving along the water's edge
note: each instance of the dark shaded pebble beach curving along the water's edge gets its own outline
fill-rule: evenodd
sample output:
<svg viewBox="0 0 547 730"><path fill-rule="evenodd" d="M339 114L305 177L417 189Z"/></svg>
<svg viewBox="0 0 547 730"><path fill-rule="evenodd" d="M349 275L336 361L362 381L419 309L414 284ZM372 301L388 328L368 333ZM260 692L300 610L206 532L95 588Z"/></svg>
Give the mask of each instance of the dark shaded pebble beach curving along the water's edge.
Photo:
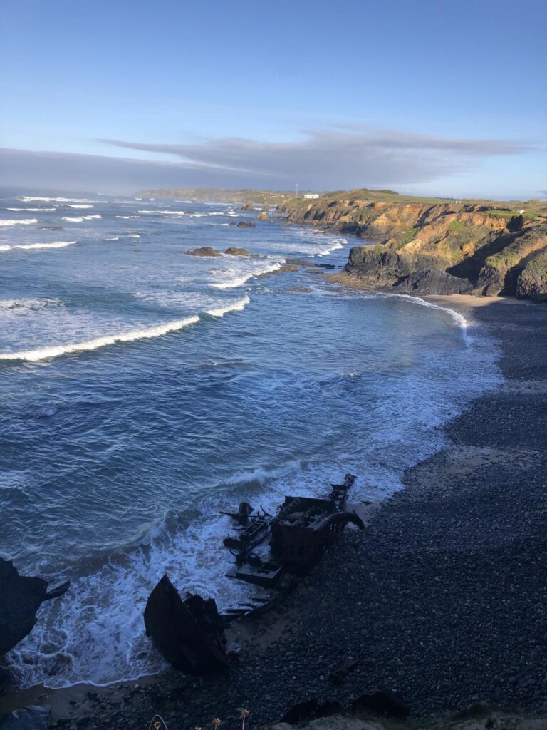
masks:
<svg viewBox="0 0 547 730"><path fill-rule="evenodd" d="M347 529L276 615L241 628L228 675L169 671L57 699L53 726L138 728L159 712L176 728L219 716L237 727L241 707L256 726L311 697L347 707L379 689L419 717L473 702L547 710L547 307L432 301L489 328L503 385L449 423L446 447L408 469L364 531ZM330 681L349 657L357 666Z"/></svg>

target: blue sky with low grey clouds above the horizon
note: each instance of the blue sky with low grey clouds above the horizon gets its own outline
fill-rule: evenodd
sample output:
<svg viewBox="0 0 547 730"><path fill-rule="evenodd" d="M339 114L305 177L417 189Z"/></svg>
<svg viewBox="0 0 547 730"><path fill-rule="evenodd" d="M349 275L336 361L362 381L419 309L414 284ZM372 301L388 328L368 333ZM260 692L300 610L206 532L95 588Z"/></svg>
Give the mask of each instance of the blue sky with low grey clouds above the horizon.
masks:
<svg viewBox="0 0 547 730"><path fill-rule="evenodd" d="M544 0L2 0L0 185L547 197Z"/></svg>

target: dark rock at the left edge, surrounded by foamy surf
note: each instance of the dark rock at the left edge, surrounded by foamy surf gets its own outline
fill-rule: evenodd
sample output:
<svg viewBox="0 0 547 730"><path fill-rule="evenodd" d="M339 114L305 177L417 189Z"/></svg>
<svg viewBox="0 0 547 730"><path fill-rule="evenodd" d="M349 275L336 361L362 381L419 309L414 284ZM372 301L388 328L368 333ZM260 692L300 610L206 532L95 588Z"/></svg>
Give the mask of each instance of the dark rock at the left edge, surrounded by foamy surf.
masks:
<svg viewBox="0 0 547 730"><path fill-rule="evenodd" d="M40 605L68 588L67 582L48 592L47 581L19 575L11 561L0 558L0 656L30 634Z"/></svg>

